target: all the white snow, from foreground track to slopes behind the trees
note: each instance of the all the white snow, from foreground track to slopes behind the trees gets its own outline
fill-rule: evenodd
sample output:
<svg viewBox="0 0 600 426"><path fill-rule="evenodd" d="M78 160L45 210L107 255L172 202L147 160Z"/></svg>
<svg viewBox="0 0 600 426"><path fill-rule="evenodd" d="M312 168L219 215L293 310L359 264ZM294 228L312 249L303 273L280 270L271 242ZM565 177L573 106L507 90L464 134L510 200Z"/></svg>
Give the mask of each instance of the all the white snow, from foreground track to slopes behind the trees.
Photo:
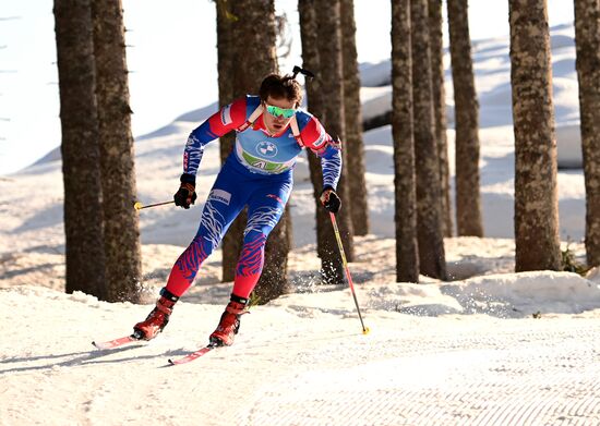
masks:
<svg viewBox="0 0 600 426"><path fill-rule="evenodd" d="M578 144L572 32L557 27L552 37L562 78L554 82L561 161ZM220 251L157 339L113 351L91 341L124 336L147 315L195 232L202 203L140 212L148 304L111 304L63 293L60 162L50 156L0 177L0 425L600 424L600 271L514 273L506 46L506 38L475 45L487 238L445 240L452 281L396 282L391 130L364 135L372 233L356 239L350 270L369 334L346 284L317 284L304 158L290 202L295 293L254 306L233 346L168 368L167 358L206 343L228 301ZM380 85L362 90L371 117L386 111L385 66L362 68L363 82ZM215 104L191 111L137 138L140 200L170 199L187 135L214 110ZM452 129L448 141L454 173ZM565 141L573 145L565 148ZM204 154L199 200L218 165L215 143ZM559 193L563 249L583 261L580 169L560 171Z"/></svg>

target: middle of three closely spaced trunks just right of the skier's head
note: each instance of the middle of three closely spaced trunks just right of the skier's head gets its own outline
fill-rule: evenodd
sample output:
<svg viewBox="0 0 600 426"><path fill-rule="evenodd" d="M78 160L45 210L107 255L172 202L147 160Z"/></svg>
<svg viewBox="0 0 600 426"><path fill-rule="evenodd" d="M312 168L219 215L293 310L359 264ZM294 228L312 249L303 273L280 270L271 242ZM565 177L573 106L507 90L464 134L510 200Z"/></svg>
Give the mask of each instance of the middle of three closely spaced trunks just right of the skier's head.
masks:
<svg viewBox="0 0 600 426"><path fill-rule="evenodd" d="M321 96L326 100L323 102L322 123L327 133L334 138L345 141L346 122L344 114L344 82L341 64L341 28L340 28L340 7L339 0L333 0L320 3L317 14L317 48L321 68L319 70L321 78ZM346 149L341 149L343 162L347 165ZM337 193L341 198L343 207L336 215L339 224L339 232L346 257L352 261L355 257L355 247L352 243L352 217L351 203L348 187L348 166L341 169L341 178L337 185ZM322 208L322 207L321 207ZM327 218L327 224L331 226L331 219ZM344 280L344 268L339 260L339 249L335 241L329 243L334 248L329 257L333 261L323 261L324 281L339 283Z"/></svg>

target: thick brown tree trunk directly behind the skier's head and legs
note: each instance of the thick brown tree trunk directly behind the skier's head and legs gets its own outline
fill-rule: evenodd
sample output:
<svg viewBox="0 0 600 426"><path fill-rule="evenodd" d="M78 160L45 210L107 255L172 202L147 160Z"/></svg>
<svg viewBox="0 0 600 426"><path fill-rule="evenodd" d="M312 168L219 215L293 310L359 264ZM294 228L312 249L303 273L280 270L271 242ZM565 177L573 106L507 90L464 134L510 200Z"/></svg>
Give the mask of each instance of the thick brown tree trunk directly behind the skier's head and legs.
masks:
<svg viewBox="0 0 600 426"><path fill-rule="evenodd" d="M219 93L219 104L225 105L247 94L257 94L263 78L267 74L277 72L274 1L218 0L217 24L219 90L224 89L224 93ZM225 96L228 96L228 100ZM221 160L225 160L231 151L233 142L235 136L221 138ZM243 212L233 221L225 235L224 281L231 281L235 278L245 222L247 215ZM287 260L290 246L291 216L289 207L286 207L286 212L268 235L266 243L263 272L254 290L261 303L289 292Z"/></svg>

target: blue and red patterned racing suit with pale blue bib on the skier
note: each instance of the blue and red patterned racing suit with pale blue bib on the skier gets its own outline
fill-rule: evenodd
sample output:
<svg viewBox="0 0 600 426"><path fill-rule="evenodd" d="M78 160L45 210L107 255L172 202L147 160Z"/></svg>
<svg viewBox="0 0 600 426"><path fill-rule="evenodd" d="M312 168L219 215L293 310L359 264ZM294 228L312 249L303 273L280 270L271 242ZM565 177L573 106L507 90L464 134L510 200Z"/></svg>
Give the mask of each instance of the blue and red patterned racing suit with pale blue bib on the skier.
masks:
<svg viewBox="0 0 600 426"><path fill-rule="evenodd" d="M183 172L195 175L206 144L237 131L235 149L211 190L197 233L171 269L167 290L177 296L190 288L200 266L244 206L248 206L248 223L232 293L249 297L261 277L265 242L284 214L293 185L292 169L302 146L290 125L271 135L262 114L242 130L260 104L256 96L238 99L208 118L188 138ZM296 120L301 143L321 158L323 185L335 188L341 172L339 145L312 114L298 110Z"/></svg>

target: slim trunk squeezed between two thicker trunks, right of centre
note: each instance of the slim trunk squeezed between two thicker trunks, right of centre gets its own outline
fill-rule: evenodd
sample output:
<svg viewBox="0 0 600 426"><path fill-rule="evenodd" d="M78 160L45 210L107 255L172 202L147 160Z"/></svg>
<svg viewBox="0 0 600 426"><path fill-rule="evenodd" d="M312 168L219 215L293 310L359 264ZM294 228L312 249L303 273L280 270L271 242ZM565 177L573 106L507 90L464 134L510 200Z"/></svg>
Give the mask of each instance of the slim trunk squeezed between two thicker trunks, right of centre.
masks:
<svg viewBox="0 0 600 426"><path fill-rule="evenodd" d="M452 236L442 0L429 0L429 27L431 37L433 122L435 124L435 141L437 143L437 156L440 157L440 179L442 181L442 224L444 226L444 236Z"/></svg>

